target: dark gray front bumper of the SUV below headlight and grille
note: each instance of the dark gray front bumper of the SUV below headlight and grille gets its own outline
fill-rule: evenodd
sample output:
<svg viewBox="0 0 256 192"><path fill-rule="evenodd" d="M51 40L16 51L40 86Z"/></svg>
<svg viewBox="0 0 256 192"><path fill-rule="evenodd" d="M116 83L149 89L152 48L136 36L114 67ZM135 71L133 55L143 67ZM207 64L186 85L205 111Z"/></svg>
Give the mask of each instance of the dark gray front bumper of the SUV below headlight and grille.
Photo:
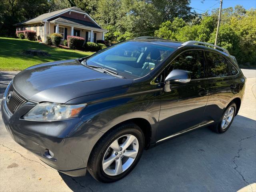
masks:
<svg viewBox="0 0 256 192"><path fill-rule="evenodd" d="M1 103L2 119L15 142L60 172L70 176L86 174L90 152L102 132L88 126L80 118L51 122L24 120L20 117L35 104L27 102L11 114L5 97ZM48 150L54 155L49 156Z"/></svg>

